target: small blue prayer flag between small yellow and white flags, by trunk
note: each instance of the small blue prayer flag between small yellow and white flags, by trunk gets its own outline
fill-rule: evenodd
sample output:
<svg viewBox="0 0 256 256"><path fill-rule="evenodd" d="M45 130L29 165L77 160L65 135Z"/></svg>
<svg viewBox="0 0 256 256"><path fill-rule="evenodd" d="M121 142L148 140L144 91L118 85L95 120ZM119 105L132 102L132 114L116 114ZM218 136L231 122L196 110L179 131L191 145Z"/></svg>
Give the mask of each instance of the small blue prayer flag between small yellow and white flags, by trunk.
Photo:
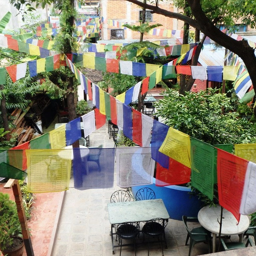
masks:
<svg viewBox="0 0 256 256"><path fill-rule="evenodd" d="M66 145L72 145L82 137L80 117L66 124Z"/></svg>

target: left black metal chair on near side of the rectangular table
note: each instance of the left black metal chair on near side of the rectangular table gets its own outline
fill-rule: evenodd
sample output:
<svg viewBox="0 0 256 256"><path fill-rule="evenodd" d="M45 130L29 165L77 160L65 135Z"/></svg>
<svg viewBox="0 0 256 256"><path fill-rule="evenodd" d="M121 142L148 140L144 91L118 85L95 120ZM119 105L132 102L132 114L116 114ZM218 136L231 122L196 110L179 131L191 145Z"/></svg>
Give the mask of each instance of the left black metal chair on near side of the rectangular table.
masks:
<svg viewBox="0 0 256 256"><path fill-rule="evenodd" d="M122 251L122 242L123 239L125 240L133 240L134 244L134 250L135 250L135 256L136 256L136 241L135 238L139 236L139 223L138 222L124 222L121 224L117 224L115 226L116 228L116 234L119 239L120 246L120 256Z"/></svg>

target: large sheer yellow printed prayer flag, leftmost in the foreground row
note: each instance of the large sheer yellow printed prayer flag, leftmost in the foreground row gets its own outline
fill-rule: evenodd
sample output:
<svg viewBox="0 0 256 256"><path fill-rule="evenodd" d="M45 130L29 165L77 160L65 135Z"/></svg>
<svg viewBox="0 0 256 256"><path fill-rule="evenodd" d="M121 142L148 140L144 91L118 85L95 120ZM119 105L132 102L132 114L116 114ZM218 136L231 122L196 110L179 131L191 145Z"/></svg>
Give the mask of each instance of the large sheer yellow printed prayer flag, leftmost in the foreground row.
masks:
<svg viewBox="0 0 256 256"><path fill-rule="evenodd" d="M57 192L69 189L72 149L26 150L28 191Z"/></svg>

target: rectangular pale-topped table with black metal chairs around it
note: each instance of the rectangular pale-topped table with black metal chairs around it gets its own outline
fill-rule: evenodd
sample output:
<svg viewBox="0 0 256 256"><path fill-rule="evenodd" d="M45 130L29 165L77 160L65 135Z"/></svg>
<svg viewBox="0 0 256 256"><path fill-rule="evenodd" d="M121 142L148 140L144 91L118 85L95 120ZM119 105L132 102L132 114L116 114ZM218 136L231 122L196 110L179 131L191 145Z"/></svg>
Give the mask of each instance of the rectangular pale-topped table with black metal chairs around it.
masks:
<svg viewBox="0 0 256 256"><path fill-rule="evenodd" d="M131 202L108 203L108 216L111 224L112 252L114 254L113 226L123 222L148 221L170 218L162 199L141 200Z"/></svg>

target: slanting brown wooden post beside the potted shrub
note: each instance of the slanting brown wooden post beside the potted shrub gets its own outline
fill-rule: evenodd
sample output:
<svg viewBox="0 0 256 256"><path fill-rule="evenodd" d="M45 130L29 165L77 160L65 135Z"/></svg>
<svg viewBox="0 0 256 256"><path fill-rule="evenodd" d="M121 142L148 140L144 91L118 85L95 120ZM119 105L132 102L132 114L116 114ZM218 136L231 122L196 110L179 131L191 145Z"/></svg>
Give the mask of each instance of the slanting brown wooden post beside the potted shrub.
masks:
<svg viewBox="0 0 256 256"><path fill-rule="evenodd" d="M8 182L5 184L4 188L12 188L27 256L34 256L34 251L33 251L28 224L27 224L27 218L26 218L26 214L25 214L25 210L22 202L20 184L18 180L9 179Z"/></svg>

